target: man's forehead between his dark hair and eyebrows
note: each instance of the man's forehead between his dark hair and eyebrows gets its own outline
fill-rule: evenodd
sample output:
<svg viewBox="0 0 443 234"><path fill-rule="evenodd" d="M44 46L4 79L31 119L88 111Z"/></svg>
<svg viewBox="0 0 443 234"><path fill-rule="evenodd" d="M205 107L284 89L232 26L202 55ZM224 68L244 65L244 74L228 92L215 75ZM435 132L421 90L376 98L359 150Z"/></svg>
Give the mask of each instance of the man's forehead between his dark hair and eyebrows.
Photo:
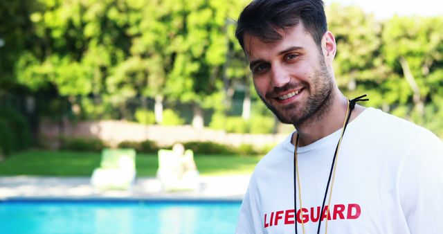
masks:
<svg viewBox="0 0 443 234"><path fill-rule="evenodd" d="M275 55L280 51L284 51L291 47L309 48L316 46L312 36L305 30L305 27L300 24L288 28L287 30L278 29L277 32L282 36L282 39L273 42L265 42L260 37L255 37L248 33L244 35L244 51L246 58L251 61L255 58L262 58L266 55Z"/></svg>

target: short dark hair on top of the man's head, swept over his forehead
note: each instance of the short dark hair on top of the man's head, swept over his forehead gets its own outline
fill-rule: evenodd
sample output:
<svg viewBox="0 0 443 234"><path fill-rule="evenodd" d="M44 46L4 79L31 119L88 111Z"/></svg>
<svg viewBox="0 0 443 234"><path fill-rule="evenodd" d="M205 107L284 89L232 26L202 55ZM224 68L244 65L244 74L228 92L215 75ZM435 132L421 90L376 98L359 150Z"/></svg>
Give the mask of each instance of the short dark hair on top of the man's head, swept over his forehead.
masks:
<svg viewBox="0 0 443 234"><path fill-rule="evenodd" d="M287 30L299 21L319 46L327 30L322 0L255 0L249 3L237 21L235 37L244 49L247 33L264 42L282 39L278 29Z"/></svg>

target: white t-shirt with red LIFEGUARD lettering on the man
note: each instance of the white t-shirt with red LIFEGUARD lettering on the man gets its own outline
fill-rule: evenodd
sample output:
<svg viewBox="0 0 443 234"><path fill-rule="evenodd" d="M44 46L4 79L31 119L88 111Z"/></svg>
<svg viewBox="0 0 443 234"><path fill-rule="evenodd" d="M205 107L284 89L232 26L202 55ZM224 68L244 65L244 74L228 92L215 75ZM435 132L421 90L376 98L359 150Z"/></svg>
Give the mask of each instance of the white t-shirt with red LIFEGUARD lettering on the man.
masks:
<svg viewBox="0 0 443 234"><path fill-rule="evenodd" d="M316 233L341 129L298 147L305 233ZM291 136L257 164L235 233L294 233ZM297 187L298 191L298 187ZM297 192L298 196L298 192ZM329 193L325 202L327 205ZM336 158L320 233L443 233L443 143L428 130L368 108L349 125ZM327 219L327 220L326 220ZM298 222L298 233L302 224Z"/></svg>

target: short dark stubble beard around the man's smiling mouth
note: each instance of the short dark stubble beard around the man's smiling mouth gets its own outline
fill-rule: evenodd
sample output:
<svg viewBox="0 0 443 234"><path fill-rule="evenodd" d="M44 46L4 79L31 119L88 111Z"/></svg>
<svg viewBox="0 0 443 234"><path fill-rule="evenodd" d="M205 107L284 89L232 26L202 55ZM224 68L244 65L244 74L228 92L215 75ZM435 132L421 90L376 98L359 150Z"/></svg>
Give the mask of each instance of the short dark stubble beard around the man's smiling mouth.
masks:
<svg viewBox="0 0 443 234"><path fill-rule="evenodd" d="M332 96L334 91L332 75L327 71L325 60L319 58L318 65L318 68L314 71L313 77L309 78L309 80L311 80L311 85L304 85L305 88L309 87L311 95L307 97L307 100L303 105L291 103L279 110L266 100L266 98L271 100L271 97L274 96L273 93L280 93L300 87L300 84L298 83L289 82L284 85L284 87L275 87L272 92L266 93L266 98L257 92L260 99L264 102L264 105L277 116L280 122L292 124L294 126L301 126L305 124L307 120L318 120L323 118L323 116L329 112L330 107L332 106Z"/></svg>

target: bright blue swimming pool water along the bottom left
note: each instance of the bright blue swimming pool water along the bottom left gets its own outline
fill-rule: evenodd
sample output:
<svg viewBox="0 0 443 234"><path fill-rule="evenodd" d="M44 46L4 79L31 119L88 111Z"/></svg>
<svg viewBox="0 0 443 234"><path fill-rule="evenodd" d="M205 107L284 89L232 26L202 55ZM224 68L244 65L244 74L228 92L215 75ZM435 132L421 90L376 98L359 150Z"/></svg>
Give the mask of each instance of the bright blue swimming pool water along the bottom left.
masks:
<svg viewBox="0 0 443 234"><path fill-rule="evenodd" d="M233 233L237 201L0 201L0 233Z"/></svg>

